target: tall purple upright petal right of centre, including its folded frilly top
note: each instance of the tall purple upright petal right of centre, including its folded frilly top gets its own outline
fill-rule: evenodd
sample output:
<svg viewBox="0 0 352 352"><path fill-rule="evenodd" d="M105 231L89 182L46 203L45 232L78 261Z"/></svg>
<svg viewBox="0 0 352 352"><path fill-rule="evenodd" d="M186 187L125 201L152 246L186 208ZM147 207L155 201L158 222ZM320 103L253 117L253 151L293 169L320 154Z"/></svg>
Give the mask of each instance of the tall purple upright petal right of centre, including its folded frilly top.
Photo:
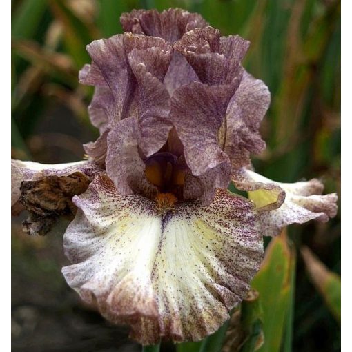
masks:
<svg viewBox="0 0 352 352"><path fill-rule="evenodd" d="M242 79L240 61L247 48L244 39L237 36L224 41L211 27L197 28L175 43L202 82L175 90L170 121L184 145L193 176L203 184L204 202L211 199L215 188L227 188L230 182L231 162L222 150L222 129L228 102ZM190 187L185 188L187 198Z"/></svg>

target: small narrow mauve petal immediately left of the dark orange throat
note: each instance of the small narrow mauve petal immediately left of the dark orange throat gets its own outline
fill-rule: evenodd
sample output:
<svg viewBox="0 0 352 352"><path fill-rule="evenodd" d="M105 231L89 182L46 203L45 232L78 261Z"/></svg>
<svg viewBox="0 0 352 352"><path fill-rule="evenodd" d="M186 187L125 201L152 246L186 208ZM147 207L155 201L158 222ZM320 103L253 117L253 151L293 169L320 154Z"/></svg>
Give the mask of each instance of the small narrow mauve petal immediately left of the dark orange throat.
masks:
<svg viewBox="0 0 352 352"><path fill-rule="evenodd" d="M139 153L138 136L134 117L124 119L109 133L106 172L122 195L137 193L153 199L157 188L146 179L146 164Z"/></svg>

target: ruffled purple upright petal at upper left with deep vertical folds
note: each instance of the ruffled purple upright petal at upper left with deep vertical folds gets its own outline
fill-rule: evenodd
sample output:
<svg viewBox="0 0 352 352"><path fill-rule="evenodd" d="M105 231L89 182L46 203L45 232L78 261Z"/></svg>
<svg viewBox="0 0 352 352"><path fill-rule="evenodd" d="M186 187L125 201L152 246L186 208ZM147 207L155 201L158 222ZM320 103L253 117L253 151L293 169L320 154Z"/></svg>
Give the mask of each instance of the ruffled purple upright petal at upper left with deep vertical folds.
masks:
<svg viewBox="0 0 352 352"><path fill-rule="evenodd" d="M125 33L93 41L87 48L92 65L84 67L80 78L85 84L97 85L89 111L101 137L86 146L86 153L102 159L106 155L106 131L130 116L138 122L139 148L146 156L157 152L172 128L166 119L170 97L162 84L171 46L162 38Z"/></svg>

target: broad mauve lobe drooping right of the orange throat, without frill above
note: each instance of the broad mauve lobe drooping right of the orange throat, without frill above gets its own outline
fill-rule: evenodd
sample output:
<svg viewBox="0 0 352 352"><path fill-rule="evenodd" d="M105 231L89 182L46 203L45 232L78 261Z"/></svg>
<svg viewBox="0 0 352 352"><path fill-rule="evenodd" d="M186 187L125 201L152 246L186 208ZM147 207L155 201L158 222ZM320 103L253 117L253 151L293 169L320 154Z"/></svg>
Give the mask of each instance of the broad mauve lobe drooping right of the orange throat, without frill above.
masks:
<svg viewBox="0 0 352 352"><path fill-rule="evenodd" d="M186 163L194 176L213 179L206 187L211 186L211 192L227 188L231 177L231 162L217 138L228 102L224 90L195 83L178 88L171 99L170 120L184 145ZM217 175L216 179L211 175Z"/></svg>

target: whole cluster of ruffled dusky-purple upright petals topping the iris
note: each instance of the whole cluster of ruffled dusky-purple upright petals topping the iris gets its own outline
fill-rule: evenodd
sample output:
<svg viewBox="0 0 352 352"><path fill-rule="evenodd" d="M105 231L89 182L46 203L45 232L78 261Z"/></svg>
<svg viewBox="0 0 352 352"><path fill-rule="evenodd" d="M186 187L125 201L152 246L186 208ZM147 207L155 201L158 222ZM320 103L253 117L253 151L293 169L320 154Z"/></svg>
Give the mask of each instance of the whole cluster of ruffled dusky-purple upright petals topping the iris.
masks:
<svg viewBox="0 0 352 352"><path fill-rule="evenodd" d="M181 9L133 10L121 23L129 32L87 46L92 63L79 75L95 86L89 112L101 133L86 153L105 162L120 193L150 198L155 191L141 163L175 153L184 160L184 175L190 173L177 193L208 204L216 188L228 187L231 169L265 146L258 129L270 95L241 66L249 41L222 37L199 14Z"/></svg>

